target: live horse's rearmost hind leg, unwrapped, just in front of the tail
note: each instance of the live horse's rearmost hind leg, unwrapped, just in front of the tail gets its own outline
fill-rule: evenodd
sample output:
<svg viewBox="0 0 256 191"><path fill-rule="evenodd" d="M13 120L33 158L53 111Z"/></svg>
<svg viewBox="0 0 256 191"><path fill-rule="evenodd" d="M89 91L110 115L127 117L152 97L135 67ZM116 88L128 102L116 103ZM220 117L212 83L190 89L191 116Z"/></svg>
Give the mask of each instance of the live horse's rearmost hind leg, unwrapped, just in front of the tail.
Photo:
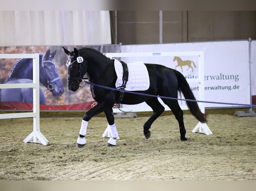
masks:
<svg viewBox="0 0 256 191"><path fill-rule="evenodd" d="M162 99L162 100L171 109L172 113L174 114L175 118L177 119L177 121L179 123L180 140L186 141L187 138L185 137L186 129L184 126L184 121L183 121L183 111L180 108L178 101L170 100L170 99Z"/></svg>

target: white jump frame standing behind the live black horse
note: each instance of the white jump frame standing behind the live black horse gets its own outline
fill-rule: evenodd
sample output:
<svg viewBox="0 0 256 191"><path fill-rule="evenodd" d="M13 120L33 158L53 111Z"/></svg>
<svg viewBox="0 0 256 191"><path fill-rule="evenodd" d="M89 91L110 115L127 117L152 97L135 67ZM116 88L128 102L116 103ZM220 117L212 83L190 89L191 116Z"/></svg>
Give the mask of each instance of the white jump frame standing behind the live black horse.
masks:
<svg viewBox="0 0 256 191"><path fill-rule="evenodd" d="M199 83L199 100L205 99L205 81L204 81L204 52L203 51L191 51L191 52L136 52L136 53L107 53L109 58L122 58L122 57L162 57L162 56L198 56L199 57L199 78L186 79L188 83ZM180 106L182 110L188 109L186 105ZM203 113L205 113L205 103L199 102L199 107ZM129 107L132 111L152 111L151 107ZM165 107L165 110L170 110L169 107ZM113 108L113 112L120 112L118 108ZM205 133L207 135L213 135L212 131L206 123L198 122L192 132ZM102 137L111 137L111 131L109 126L102 134Z"/></svg>

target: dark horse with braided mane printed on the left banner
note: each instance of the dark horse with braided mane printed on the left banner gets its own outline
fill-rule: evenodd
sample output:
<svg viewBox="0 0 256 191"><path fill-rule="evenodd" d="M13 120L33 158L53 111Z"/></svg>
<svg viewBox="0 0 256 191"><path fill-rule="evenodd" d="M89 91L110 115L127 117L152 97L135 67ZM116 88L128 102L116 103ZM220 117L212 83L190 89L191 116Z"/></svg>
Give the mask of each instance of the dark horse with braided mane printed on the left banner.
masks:
<svg viewBox="0 0 256 191"><path fill-rule="evenodd" d="M64 93L62 82L59 78L57 67L52 60L56 51L50 53L50 50L39 53L39 81L43 84L53 96L60 96ZM4 84L33 83L33 59L19 59L12 68L9 77ZM39 90L40 104L46 104L42 88ZM18 101L33 103L32 88L14 88L1 89L0 101Z"/></svg>

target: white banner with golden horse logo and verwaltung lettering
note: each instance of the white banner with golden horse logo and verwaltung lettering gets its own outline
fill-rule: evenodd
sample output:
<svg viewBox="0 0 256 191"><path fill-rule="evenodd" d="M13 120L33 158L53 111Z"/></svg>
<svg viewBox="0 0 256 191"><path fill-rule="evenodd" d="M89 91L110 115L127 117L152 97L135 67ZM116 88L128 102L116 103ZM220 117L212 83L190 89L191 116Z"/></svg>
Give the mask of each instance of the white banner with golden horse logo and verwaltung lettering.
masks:
<svg viewBox="0 0 256 191"><path fill-rule="evenodd" d="M205 100L224 103L250 104L249 45L248 41L179 43L157 45L123 45L121 52L204 52ZM193 61L189 65L179 66L177 59ZM122 61L143 61L161 64L181 72L185 78L198 78L198 57L130 57ZM199 84L189 83L191 90L199 100ZM183 97L182 97L183 98ZM184 101L181 102L185 104ZM237 105L206 103L205 107L233 107ZM126 106L125 106L126 107ZM127 106L128 107L128 106Z"/></svg>

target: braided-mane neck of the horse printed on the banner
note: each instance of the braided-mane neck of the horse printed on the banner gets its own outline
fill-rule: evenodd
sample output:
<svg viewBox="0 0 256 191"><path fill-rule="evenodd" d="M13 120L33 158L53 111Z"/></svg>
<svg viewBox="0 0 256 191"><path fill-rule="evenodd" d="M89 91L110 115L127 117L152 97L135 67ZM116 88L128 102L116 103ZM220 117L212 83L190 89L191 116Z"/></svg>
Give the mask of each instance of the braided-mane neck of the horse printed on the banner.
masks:
<svg viewBox="0 0 256 191"><path fill-rule="evenodd" d="M33 61L32 59L21 59L17 62L5 82L14 79L33 80Z"/></svg>

